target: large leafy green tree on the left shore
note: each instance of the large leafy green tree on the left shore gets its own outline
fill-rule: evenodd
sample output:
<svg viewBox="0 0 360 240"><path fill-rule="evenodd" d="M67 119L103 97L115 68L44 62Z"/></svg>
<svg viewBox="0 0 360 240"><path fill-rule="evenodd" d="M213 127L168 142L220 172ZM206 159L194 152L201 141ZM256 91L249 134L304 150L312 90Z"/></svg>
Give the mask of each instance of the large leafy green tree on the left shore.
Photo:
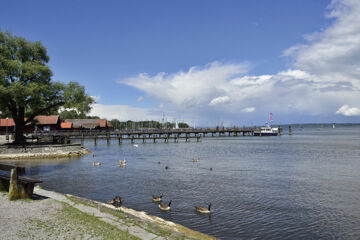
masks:
<svg viewBox="0 0 360 240"><path fill-rule="evenodd" d="M14 119L17 144L25 142L24 126L35 116L57 112L60 107L86 114L94 102L79 84L52 81L48 61L41 42L0 30L0 111Z"/></svg>

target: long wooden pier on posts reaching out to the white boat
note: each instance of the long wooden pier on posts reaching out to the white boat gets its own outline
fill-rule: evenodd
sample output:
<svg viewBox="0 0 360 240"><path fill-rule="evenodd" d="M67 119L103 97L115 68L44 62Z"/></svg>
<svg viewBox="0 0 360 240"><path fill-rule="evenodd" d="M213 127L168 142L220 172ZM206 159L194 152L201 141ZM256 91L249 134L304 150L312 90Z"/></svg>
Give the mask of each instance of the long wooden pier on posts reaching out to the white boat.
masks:
<svg viewBox="0 0 360 240"><path fill-rule="evenodd" d="M156 142L189 142L196 140L200 142L205 137L239 137L254 136L254 132L258 130L254 128L194 128L194 129L140 129L140 130L61 130L38 133L36 137L52 138L67 143L71 140L81 140L83 143L86 139L93 139L97 144L98 140L117 140L119 144L124 141L135 143L156 143ZM281 135L281 128L279 128Z"/></svg>

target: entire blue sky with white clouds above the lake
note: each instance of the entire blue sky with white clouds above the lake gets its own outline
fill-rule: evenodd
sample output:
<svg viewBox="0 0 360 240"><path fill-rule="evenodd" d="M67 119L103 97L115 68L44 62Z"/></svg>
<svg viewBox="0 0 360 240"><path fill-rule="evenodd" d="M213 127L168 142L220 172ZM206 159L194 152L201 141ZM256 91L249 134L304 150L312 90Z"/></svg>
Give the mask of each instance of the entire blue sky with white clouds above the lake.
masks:
<svg viewBox="0 0 360 240"><path fill-rule="evenodd" d="M358 2L15 0L0 28L40 40L108 119L360 122Z"/></svg>

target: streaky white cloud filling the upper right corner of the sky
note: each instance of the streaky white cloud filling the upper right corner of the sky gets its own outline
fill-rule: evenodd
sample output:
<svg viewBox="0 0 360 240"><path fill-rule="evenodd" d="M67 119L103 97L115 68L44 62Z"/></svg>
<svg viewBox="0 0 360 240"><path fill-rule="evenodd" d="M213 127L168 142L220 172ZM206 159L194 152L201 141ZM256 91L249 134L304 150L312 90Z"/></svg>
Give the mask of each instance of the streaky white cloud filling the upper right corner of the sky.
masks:
<svg viewBox="0 0 360 240"><path fill-rule="evenodd" d="M359 90L360 83L360 1L333 0L327 17L334 23L310 37L307 44L285 51L295 58L294 67L317 75L324 81L348 81Z"/></svg>

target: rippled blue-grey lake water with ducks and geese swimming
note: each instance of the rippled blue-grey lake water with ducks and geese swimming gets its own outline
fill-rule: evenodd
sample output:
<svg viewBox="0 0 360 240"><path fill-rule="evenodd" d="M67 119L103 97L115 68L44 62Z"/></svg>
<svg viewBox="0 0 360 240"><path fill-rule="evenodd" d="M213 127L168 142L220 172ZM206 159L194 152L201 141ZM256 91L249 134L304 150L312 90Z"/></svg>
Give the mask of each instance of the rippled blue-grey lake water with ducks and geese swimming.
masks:
<svg viewBox="0 0 360 240"><path fill-rule="evenodd" d="M358 238L360 128L293 133L137 148L89 141L96 157L25 164L44 188L103 202L120 195L127 207L221 239ZM126 167L119 168L124 158ZM152 202L161 193L164 202L172 200L170 212ZM195 211L210 202L211 214Z"/></svg>

